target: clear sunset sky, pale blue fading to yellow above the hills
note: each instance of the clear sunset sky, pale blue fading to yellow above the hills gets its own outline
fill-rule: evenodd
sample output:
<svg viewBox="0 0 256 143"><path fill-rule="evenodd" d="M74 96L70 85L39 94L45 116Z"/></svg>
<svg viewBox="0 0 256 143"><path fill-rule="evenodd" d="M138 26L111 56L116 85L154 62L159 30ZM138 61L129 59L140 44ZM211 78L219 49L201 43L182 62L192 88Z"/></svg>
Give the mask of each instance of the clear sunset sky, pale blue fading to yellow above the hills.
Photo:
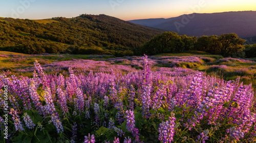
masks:
<svg viewBox="0 0 256 143"><path fill-rule="evenodd" d="M1 0L0 17L72 18L105 14L122 20L170 18L190 13L256 11L255 0Z"/></svg>

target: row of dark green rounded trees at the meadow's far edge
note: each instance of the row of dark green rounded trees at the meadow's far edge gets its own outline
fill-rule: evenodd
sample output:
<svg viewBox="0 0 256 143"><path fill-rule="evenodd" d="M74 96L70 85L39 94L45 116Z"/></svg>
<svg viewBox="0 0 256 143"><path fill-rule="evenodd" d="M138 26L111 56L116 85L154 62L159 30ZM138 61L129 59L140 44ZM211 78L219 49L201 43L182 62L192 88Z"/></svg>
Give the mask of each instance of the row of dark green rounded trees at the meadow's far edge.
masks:
<svg viewBox="0 0 256 143"><path fill-rule="evenodd" d="M165 32L152 38L140 48L135 50L136 54L146 53L148 55L160 53L180 53L185 50L198 50L211 54L227 56L244 56L246 40L240 39L237 34L222 34L220 36L186 36L175 32Z"/></svg>

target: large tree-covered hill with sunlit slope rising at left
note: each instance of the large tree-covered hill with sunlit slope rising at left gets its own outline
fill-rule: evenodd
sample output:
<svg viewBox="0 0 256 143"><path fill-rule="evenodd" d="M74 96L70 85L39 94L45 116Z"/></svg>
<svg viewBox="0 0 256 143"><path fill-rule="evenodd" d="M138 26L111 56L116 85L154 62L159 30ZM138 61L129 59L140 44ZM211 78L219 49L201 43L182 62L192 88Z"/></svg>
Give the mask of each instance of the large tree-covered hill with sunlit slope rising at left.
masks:
<svg viewBox="0 0 256 143"><path fill-rule="evenodd" d="M104 14L40 20L1 18L0 50L132 55L132 48L162 32Z"/></svg>

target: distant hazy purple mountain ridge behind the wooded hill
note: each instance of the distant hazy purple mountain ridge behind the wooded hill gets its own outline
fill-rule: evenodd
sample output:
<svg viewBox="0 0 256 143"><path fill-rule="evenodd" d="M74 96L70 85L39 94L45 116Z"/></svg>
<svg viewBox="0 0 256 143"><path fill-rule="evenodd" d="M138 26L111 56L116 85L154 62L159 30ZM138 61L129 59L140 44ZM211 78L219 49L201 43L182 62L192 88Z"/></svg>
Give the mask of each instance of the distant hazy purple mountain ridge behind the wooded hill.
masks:
<svg viewBox="0 0 256 143"><path fill-rule="evenodd" d="M168 19L139 19L130 20L130 22L188 36L223 33L237 33L240 38L256 36L256 11L193 13Z"/></svg>

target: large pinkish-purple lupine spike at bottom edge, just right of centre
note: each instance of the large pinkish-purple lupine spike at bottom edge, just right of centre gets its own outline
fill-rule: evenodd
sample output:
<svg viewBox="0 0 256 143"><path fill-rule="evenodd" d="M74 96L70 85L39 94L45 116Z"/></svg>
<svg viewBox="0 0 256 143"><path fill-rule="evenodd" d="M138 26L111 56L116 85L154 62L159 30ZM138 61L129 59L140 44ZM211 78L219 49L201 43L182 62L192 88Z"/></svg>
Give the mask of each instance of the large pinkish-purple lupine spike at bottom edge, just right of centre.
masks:
<svg viewBox="0 0 256 143"><path fill-rule="evenodd" d="M172 142L173 141L173 137L175 134L175 121L176 118L174 117L174 113L172 113L172 117L169 117L169 120L167 120L166 122L162 122L159 125L159 140L162 142Z"/></svg>

